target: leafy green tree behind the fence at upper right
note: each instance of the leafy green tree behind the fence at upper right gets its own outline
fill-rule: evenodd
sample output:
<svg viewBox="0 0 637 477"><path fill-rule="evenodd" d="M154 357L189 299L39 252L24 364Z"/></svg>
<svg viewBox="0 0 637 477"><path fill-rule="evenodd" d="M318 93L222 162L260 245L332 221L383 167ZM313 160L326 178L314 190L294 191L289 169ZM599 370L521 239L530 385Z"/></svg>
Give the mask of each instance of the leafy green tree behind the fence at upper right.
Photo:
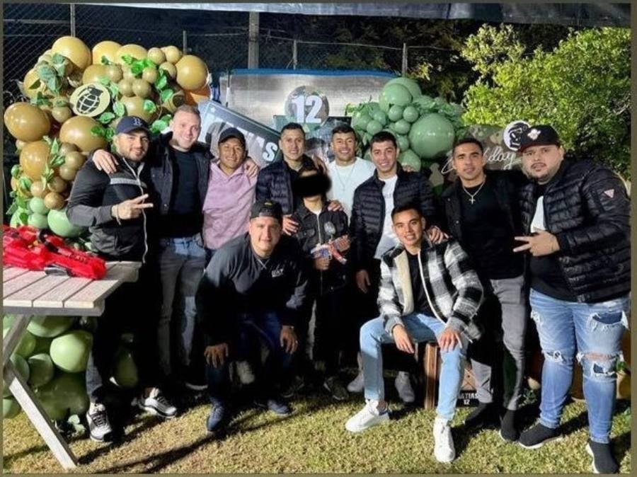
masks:
<svg viewBox="0 0 637 477"><path fill-rule="evenodd" d="M515 33L488 29L469 37L461 52L481 74L464 96L465 124L551 124L567 149L629 177L630 30L571 33L552 51L538 47L524 57Z"/></svg>

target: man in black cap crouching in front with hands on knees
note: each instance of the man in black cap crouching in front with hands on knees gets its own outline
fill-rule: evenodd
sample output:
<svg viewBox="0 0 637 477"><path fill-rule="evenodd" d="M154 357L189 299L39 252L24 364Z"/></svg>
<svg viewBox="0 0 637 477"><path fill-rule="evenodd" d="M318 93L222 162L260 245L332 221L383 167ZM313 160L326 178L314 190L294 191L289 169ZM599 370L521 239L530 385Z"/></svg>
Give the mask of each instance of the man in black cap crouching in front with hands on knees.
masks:
<svg viewBox="0 0 637 477"><path fill-rule="evenodd" d="M257 201L248 233L219 248L197 289L212 403L209 432L229 422L229 361L260 363L255 338L269 350L263 369L256 373L255 403L278 415L290 413L279 387L297 350L294 324L306 300L307 278L301 250L293 238L282 236L282 222L280 204Z"/></svg>

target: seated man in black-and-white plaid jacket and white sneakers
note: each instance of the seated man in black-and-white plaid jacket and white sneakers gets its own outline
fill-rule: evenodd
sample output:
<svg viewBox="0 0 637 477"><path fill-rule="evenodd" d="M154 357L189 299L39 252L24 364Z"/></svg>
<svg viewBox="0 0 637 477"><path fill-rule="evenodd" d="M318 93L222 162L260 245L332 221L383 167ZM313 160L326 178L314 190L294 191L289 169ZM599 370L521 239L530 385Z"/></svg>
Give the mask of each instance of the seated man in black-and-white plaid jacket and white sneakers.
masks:
<svg viewBox="0 0 637 477"><path fill-rule="evenodd" d="M418 207L403 205L391 212L400 245L381 259L381 316L360 328L365 379L365 408L345 424L351 432L389 422L384 400L381 345L415 353L414 343L437 341L442 369L434 423L437 461L455 458L449 422L454 417L469 341L481 330L473 318L483 298L478 275L457 241L432 245L423 234L425 219Z"/></svg>

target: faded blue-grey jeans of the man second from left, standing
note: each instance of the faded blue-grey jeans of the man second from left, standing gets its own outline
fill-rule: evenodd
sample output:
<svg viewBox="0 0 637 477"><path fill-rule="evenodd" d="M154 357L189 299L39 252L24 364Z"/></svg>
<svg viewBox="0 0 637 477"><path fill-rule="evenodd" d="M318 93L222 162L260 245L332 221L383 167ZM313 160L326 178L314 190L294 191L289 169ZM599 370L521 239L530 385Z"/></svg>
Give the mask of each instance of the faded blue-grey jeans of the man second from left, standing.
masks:
<svg viewBox="0 0 637 477"><path fill-rule="evenodd" d="M163 297L157 329L159 369L171 376L183 372L179 367L187 367L190 362L197 316L195 293L205 268L205 249L200 234L162 238L159 245Z"/></svg>

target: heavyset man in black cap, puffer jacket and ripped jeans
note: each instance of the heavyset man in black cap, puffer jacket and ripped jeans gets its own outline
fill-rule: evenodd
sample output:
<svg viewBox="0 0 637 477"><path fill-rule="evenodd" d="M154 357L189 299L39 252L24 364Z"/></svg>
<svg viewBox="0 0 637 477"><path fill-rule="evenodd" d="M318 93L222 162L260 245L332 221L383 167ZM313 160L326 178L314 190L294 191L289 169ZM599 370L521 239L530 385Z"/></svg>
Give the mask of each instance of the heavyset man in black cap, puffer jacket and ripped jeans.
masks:
<svg viewBox="0 0 637 477"><path fill-rule="evenodd" d="M630 205L619 177L590 161L564 161L553 127L529 128L520 145L533 183L522 190L523 245L529 251L531 317L544 353L539 422L520 435L527 449L559 439L573 379L582 366L593 470L619 467L609 435L616 364L630 310ZM577 352L576 352L577 350Z"/></svg>

